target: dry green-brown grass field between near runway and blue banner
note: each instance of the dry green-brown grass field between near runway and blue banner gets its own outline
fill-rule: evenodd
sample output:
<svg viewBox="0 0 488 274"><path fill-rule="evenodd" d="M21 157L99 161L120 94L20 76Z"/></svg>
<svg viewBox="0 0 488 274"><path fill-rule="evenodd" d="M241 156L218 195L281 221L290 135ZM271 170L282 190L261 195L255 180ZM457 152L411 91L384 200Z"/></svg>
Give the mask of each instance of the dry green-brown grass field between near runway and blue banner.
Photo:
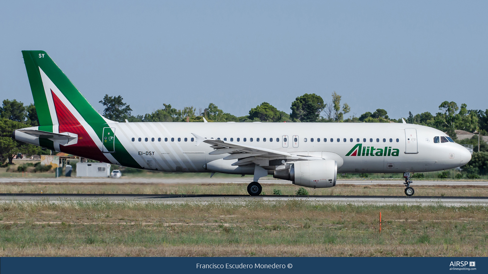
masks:
<svg viewBox="0 0 488 274"><path fill-rule="evenodd" d="M0 256L487 256L487 246L483 206L0 204Z"/></svg>

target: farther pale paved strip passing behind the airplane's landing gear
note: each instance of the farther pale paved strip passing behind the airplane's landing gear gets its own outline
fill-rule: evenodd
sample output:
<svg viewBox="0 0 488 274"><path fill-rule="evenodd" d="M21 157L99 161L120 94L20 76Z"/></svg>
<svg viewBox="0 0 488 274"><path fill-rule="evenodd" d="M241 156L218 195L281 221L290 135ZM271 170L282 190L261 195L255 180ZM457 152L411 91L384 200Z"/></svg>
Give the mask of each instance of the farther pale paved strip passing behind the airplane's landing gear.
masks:
<svg viewBox="0 0 488 274"><path fill-rule="evenodd" d="M1 183L148 183L148 184L210 184L210 183L245 183L248 184L252 181L252 176L244 176L244 177L182 177L182 178L105 178L105 177L98 177L98 178L86 178L86 177L58 177L58 178L0 178ZM274 179L274 178L262 178L259 180L261 184L291 184L291 181ZM338 179L336 186L342 185L374 185L374 184L381 184L381 185L403 185L403 180L346 180L346 179ZM427 180L418 180L416 181L413 179L412 186L415 185L480 185L480 186L488 186L488 181L427 181Z"/></svg>

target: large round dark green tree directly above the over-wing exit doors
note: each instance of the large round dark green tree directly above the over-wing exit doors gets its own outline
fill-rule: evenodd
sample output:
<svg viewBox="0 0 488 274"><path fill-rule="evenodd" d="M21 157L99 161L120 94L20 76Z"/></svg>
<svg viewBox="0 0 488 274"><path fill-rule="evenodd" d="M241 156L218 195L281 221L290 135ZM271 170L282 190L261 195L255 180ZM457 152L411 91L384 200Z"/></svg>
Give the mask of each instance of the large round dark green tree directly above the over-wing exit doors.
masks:
<svg viewBox="0 0 488 274"><path fill-rule="evenodd" d="M305 93L291 103L290 117L301 122L316 122L324 108L325 104L322 97L315 93Z"/></svg>

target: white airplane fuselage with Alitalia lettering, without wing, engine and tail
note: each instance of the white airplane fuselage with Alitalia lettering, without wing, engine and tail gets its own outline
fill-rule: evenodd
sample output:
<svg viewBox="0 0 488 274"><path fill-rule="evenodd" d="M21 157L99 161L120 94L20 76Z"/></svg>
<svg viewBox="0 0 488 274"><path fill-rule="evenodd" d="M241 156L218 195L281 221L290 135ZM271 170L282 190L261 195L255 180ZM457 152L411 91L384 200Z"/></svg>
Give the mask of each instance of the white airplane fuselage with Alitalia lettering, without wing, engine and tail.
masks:
<svg viewBox="0 0 488 274"><path fill-rule="evenodd" d="M115 128L123 147L142 167L163 172L253 174L253 168L231 166L238 159L221 160L229 154L209 155L213 148L206 143L197 146L191 141L195 137L192 134L292 155L329 157L343 161L338 166L341 173L439 171L464 165L471 158L457 143L434 143L434 137L447 137L445 133L405 123L135 122L109 126ZM346 156L358 143L364 151ZM393 155L395 149L398 153ZM219 164L207 165L212 162Z"/></svg>

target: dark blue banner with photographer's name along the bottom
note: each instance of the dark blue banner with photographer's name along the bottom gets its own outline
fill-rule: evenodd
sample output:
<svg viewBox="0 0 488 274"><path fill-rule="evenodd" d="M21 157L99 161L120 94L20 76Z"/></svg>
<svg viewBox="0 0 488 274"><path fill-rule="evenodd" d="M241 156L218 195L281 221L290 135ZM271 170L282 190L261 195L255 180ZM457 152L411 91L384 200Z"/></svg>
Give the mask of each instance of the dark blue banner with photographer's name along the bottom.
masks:
<svg viewBox="0 0 488 274"><path fill-rule="evenodd" d="M488 273L487 257L2 257L1 274Z"/></svg>

